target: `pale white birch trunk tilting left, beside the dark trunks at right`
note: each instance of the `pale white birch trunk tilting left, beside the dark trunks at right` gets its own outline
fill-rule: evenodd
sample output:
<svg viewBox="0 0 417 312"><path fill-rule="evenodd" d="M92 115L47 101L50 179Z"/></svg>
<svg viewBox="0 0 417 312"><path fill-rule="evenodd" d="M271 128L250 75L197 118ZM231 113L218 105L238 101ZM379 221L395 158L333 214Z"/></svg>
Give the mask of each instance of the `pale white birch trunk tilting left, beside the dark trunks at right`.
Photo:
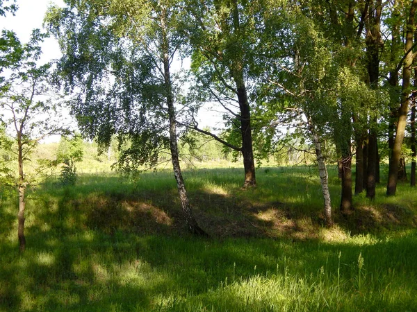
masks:
<svg viewBox="0 0 417 312"><path fill-rule="evenodd" d="M320 175L320 183L322 186L323 200L325 202L325 220L326 225L331 227L333 225L332 218L332 201L330 200L329 183L327 181L327 168L325 163L325 157L322 155L321 143L317 132L313 129L313 125L310 122L310 132L313 136L313 143L316 147L316 159L318 163L318 173Z"/></svg>

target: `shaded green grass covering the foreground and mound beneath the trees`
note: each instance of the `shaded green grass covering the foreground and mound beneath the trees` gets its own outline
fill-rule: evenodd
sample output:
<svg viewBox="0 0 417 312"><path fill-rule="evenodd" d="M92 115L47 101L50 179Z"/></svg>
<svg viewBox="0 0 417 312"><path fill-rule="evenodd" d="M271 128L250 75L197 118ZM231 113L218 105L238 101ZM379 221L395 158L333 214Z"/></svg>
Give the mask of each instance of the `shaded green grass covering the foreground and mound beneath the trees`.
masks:
<svg viewBox="0 0 417 312"><path fill-rule="evenodd" d="M1 199L0 311L417 311L416 190L354 198L323 227L316 169L184 173L211 239L188 235L170 171L138 181L50 180L27 201L24 254L15 198Z"/></svg>

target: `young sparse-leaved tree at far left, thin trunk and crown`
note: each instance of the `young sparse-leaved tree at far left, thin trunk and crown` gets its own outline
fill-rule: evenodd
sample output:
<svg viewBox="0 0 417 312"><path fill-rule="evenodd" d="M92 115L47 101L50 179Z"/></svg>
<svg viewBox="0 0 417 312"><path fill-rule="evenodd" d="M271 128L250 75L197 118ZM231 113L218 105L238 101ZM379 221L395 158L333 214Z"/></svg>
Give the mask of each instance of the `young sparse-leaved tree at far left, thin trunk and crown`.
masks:
<svg viewBox="0 0 417 312"><path fill-rule="evenodd" d="M64 132L63 119L58 120L58 105L48 96L50 87L47 79L50 76L51 65L37 64L41 54L39 42L44 37L45 35L40 31L35 30L28 44L19 46L22 57L14 64L10 64L10 76L0 86L2 109L0 119L13 138L13 144L8 144L8 148L17 155L18 167L17 178L12 171L8 171L3 177L10 184L15 184L19 194L17 236L21 252L26 247L24 236L26 189L52 163L42 162L34 173L26 172L24 165L29 162L28 156L41 139Z"/></svg>

